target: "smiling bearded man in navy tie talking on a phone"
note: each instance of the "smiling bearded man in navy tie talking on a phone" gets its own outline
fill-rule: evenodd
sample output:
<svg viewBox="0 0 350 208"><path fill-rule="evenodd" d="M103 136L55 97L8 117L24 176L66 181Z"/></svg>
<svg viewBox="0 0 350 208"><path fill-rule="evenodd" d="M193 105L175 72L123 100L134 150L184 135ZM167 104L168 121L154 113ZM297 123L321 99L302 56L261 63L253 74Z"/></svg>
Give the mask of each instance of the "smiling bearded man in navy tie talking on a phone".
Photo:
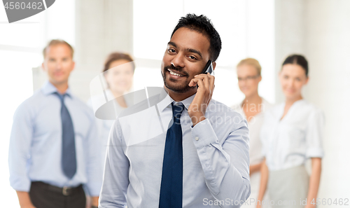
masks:
<svg viewBox="0 0 350 208"><path fill-rule="evenodd" d="M211 99L221 38L203 16L179 20L164 90L121 113L109 134L99 207L240 207L250 194L246 120Z"/></svg>

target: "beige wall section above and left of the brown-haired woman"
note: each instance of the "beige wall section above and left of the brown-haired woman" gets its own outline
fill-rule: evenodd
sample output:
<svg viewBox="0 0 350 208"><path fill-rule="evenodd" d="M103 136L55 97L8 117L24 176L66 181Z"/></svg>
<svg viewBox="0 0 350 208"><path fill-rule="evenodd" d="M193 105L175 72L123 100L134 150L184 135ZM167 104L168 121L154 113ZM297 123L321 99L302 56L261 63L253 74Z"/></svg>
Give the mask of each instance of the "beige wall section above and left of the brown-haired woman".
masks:
<svg viewBox="0 0 350 208"><path fill-rule="evenodd" d="M90 97L90 81L113 51L132 53L132 1L76 0L76 70L73 92Z"/></svg>

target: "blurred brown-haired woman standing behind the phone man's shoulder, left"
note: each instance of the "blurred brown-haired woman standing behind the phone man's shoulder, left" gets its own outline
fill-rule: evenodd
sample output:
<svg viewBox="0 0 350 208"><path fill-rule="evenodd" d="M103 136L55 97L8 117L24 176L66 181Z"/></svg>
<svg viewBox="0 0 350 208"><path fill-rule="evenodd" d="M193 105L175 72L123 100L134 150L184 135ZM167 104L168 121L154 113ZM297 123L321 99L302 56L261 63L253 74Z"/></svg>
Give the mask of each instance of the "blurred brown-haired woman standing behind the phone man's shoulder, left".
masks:
<svg viewBox="0 0 350 208"><path fill-rule="evenodd" d="M125 92L129 92L132 88L132 81L134 78L135 65L132 57L126 53L111 53L105 63L103 74L106 80L107 88L105 90L106 97L111 100L114 99L116 112L120 113L127 108L127 106L132 105L132 101L126 99L123 95ZM106 98L104 95L92 97L87 105L91 108L93 104L103 103ZM106 156L106 146L109 137L109 131L113 125L114 120L102 120L97 119L97 129L99 134L99 142L102 146L102 166L104 164L104 159Z"/></svg>

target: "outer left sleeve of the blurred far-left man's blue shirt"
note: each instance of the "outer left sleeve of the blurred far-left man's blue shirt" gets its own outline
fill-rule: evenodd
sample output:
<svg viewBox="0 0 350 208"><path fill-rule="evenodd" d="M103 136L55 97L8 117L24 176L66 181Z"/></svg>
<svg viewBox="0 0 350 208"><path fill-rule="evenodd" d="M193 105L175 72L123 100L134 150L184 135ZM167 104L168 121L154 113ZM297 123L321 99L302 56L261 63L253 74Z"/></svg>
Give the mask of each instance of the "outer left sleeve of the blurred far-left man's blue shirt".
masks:
<svg viewBox="0 0 350 208"><path fill-rule="evenodd" d="M31 186L27 169L34 134L34 120L31 114L31 109L25 103L20 104L15 111L8 151L10 186L15 190L25 192L29 192Z"/></svg>

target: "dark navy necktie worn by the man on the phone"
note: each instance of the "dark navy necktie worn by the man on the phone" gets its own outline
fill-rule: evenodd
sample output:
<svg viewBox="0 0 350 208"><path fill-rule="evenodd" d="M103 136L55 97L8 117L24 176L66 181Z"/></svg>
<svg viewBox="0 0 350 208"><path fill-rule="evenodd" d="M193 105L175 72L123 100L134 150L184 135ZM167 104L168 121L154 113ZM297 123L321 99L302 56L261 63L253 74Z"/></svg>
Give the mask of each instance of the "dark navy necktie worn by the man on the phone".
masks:
<svg viewBox="0 0 350 208"><path fill-rule="evenodd" d="M160 185L160 208L182 207L183 155L180 117L183 104L172 104L174 123L167 131Z"/></svg>

